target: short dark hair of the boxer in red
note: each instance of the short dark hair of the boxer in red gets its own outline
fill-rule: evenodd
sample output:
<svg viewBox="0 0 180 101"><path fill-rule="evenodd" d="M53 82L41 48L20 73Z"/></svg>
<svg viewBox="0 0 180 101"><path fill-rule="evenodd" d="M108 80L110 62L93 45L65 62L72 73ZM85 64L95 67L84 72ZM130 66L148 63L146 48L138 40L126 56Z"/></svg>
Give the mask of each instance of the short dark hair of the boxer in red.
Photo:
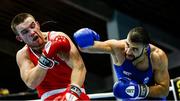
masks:
<svg viewBox="0 0 180 101"><path fill-rule="evenodd" d="M34 18L31 14L29 13L20 13L17 14L11 21L11 29L12 31L18 35L18 32L16 30L16 26L19 25L20 23L24 22L24 20L28 17Z"/></svg>

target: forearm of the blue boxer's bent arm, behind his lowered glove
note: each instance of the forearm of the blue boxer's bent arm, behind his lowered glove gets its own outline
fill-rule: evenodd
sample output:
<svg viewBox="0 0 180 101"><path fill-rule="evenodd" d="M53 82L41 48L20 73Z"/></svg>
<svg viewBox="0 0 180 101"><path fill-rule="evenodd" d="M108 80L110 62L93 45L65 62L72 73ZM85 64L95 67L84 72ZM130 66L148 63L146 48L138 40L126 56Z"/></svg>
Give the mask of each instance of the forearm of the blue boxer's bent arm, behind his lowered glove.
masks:
<svg viewBox="0 0 180 101"><path fill-rule="evenodd" d="M149 87L148 97L164 97L168 96L169 88L161 85L155 85Z"/></svg>

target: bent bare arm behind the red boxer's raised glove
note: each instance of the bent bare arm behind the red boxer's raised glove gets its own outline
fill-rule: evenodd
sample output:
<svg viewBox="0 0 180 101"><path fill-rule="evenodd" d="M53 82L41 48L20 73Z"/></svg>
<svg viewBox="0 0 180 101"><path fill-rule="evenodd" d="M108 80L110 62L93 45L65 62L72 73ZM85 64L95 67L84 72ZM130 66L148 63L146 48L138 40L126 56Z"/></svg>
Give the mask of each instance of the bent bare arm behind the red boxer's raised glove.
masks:
<svg viewBox="0 0 180 101"><path fill-rule="evenodd" d="M18 51L16 61L20 69L21 78L29 88L36 88L44 79L47 70L39 65L35 66L27 55L26 48Z"/></svg>

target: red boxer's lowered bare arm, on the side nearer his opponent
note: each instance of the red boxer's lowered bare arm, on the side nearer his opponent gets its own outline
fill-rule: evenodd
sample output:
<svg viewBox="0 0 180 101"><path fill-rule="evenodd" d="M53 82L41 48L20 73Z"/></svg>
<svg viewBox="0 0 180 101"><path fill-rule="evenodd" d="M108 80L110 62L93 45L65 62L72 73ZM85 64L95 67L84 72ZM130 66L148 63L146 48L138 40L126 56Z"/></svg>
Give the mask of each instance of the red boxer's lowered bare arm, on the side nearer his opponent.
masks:
<svg viewBox="0 0 180 101"><path fill-rule="evenodd" d="M61 33L58 33L58 35L65 36L70 42L71 49L70 49L69 54L59 53L58 55L72 68L71 84L77 84L81 87L84 83L85 76L86 76L86 68L82 60L82 57L79 54L74 43L66 34L61 32Z"/></svg>

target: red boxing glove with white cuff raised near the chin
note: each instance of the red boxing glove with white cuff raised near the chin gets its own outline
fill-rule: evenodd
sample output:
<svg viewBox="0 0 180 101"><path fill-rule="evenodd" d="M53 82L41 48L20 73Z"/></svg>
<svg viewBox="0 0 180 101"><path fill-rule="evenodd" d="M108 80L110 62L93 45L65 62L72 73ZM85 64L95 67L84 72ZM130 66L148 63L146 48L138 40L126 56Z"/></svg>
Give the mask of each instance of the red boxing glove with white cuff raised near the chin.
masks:
<svg viewBox="0 0 180 101"><path fill-rule="evenodd" d="M54 66L54 57L58 52L68 53L70 51L69 40L65 36L56 36L53 40L48 41L39 58L39 65L44 69L50 69Z"/></svg>

